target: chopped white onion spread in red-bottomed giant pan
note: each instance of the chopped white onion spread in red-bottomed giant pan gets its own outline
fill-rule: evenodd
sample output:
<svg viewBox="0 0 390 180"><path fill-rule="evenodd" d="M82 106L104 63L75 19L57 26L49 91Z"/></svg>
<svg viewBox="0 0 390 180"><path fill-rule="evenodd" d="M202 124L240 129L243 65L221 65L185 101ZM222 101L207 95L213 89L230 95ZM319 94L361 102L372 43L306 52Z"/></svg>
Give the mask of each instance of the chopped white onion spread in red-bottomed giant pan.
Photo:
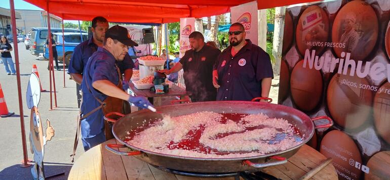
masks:
<svg viewBox="0 0 390 180"><path fill-rule="evenodd" d="M144 121L146 123L146 120ZM214 112L164 117L126 137L131 146L162 154L199 158L239 158L284 151L302 138L285 119L264 114L233 121ZM143 128L140 126L138 128ZM199 132L200 138L196 137ZM130 134L128 132L128 134Z"/></svg>

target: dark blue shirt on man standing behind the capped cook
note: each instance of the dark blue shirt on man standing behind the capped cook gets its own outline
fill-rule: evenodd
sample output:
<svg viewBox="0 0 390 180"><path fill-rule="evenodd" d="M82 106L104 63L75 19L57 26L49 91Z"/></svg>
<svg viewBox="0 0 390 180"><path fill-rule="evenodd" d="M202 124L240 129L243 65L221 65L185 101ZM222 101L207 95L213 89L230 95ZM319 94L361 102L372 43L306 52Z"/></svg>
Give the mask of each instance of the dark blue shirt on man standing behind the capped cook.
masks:
<svg viewBox="0 0 390 180"><path fill-rule="evenodd" d="M70 59L68 74L77 73L83 74L84 67L87 65L88 59L96 52L98 46L93 42L93 38L90 38L79 45L73 50L72 58ZM123 61L118 62L118 67L121 73L125 73L126 69L133 69L134 62L127 54Z"/></svg>

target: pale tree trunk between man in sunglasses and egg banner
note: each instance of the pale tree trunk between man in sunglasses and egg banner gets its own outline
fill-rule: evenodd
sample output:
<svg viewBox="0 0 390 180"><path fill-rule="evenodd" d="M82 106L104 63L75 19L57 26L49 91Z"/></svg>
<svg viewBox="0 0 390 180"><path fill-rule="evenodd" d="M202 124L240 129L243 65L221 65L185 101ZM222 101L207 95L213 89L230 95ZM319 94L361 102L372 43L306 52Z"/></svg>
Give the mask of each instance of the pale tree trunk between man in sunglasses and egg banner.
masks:
<svg viewBox="0 0 390 180"><path fill-rule="evenodd" d="M276 63L274 65L275 75L280 75L285 12L286 12L285 7L275 8L274 41L272 42L273 43L272 56L274 56L276 60Z"/></svg>

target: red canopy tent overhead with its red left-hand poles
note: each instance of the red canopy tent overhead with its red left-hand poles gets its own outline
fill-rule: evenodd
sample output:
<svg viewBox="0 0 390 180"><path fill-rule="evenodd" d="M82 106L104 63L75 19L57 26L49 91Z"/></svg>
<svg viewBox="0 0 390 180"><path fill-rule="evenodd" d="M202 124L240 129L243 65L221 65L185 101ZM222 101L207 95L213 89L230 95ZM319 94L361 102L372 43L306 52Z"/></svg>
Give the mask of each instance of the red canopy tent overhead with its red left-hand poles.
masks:
<svg viewBox="0 0 390 180"><path fill-rule="evenodd" d="M170 23L177 22L180 18L201 18L230 12L230 7L252 2L253 0L24 0L40 7L65 20L91 21L96 16L103 16L109 22L127 23ZM315 2L316 0L263 0L257 3L258 9L268 9L288 6L299 3ZM17 41L15 6L10 0L11 23L14 42ZM48 27L50 32L50 17ZM49 38L51 38L50 33ZM51 41L49 41L51 47ZM20 85L18 47L15 46L15 64L17 73L19 112L22 130L22 143L24 160L22 167L27 167L27 148L24 132L23 104ZM51 48L49 48L50 54ZM52 56L49 55L53 68ZM51 78L51 76L50 76ZM53 72L54 79L54 72ZM50 80L51 81L51 80ZM50 85L51 88L51 85ZM55 85L54 85L55 91ZM50 89L51 93L51 89ZM57 106L57 105L56 105Z"/></svg>

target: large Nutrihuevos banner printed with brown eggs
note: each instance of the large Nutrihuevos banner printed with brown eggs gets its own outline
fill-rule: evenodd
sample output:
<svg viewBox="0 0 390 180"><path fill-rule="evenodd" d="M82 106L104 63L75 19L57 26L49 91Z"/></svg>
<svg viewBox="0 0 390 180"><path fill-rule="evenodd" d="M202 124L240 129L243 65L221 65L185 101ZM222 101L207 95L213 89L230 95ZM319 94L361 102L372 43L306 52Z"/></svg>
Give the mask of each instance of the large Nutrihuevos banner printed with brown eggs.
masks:
<svg viewBox="0 0 390 180"><path fill-rule="evenodd" d="M390 176L389 20L386 0L286 10L278 103L333 119L309 145L339 179Z"/></svg>

